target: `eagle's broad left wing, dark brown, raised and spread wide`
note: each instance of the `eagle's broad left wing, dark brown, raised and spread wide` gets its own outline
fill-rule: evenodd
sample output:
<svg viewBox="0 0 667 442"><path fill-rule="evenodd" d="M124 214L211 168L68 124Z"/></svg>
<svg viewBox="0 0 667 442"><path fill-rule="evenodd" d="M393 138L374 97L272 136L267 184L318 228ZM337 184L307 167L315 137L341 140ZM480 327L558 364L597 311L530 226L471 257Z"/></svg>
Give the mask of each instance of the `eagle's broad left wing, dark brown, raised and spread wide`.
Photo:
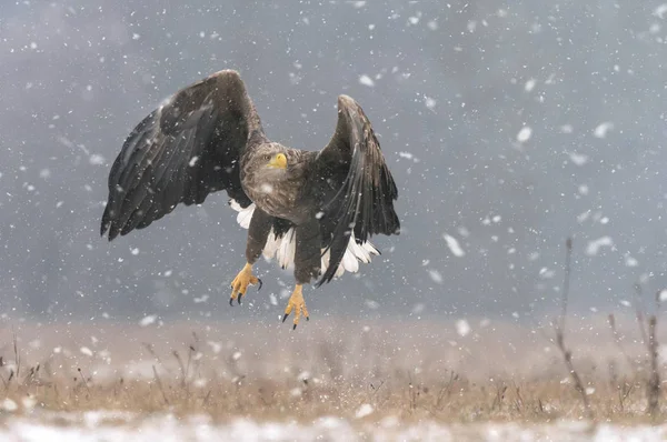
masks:
<svg viewBox="0 0 667 442"><path fill-rule="evenodd" d="M217 72L181 89L143 119L125 141L109 173L101 234L142 229L180 202L202 203L227 190L241 207L239 162L261 122L238 72Z"/></svg>

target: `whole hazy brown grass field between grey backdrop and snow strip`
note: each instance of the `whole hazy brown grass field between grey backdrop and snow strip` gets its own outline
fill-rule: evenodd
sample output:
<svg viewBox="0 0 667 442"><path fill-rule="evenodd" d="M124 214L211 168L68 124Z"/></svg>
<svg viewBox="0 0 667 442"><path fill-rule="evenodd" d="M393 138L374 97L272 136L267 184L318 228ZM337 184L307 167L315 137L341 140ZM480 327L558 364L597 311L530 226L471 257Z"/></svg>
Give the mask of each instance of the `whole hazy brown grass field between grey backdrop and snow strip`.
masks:
<svg viewBox="0 0 667 442"><path fill-rule="evenodd" d="M262 322L6 322L0 404L16 403L16 413L122 410L215 421L586 416L549 327L468 323L459 335L455 322L428 321L313 320L296 332ZM604 317L568 321L566 343L595 420L664 421L663 412L653 420L645 412L647 354L636 323L617 319L617 331L620 345Z"/></svg>

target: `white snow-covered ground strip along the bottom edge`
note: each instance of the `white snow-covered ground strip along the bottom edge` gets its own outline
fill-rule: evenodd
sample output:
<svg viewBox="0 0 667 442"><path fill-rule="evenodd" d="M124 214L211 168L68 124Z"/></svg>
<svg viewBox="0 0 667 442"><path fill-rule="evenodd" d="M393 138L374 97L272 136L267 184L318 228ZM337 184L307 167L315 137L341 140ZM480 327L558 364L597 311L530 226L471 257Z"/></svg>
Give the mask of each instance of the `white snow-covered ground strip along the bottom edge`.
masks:
<svg viewBox="0 0 667 442"><path fill-rule="evenodd" d="M155 415L138 419L128 413L57 414L48 419L11 418L0 428L1 441L663 441L667 426L552 424L404 424L398 419L347 422L322 418L310 424L255 422L239 419L211 423L205 416L178 419Z"/></svg>

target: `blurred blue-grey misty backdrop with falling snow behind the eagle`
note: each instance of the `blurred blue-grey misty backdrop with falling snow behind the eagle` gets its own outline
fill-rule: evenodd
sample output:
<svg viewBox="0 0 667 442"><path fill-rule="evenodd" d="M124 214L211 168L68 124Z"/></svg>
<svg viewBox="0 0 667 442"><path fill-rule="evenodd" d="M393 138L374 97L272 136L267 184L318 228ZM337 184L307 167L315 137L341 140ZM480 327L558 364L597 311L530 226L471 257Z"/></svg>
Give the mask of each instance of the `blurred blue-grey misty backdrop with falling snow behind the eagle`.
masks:
<svg viewBox="0 0 667 442"><path fill-rule="evenodd" d="M1 313L281 314L293 280L275 262L228 305L247 231L225 192L99 237L130 130L221 69L295 148L326 145L350 94L399 187L401 234L308 288L312 319L534 318L558 307L570 234L573 308L628 309L636 281L667 284L666 20L659 1L4 1Z"/></svg>

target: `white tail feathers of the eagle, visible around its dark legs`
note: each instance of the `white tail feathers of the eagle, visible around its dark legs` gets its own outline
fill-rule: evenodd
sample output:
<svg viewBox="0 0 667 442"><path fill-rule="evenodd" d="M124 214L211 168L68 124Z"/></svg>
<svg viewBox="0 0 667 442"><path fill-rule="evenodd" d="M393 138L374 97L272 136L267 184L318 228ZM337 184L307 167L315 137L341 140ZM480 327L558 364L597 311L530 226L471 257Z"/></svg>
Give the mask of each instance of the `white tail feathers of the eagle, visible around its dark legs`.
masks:
<svg viewBox="0 0 667 442"><path fill-rule="evenodd" d="M241 205L235 200L230 201L230 205L233 210L239 212L237 215L238 223L243 228L248 229L250 227L250 220L252 219L252 213L255 213L255 203L248 205L246 209L241 208ZM263 248L262 254L266 259L278 259L278 264L282 269L288 269L295 264L295 252L297 248L297 235L295 229L289 229L287 233L285 233L281 238L276 238L276 233L271 228L269 232L269 238L267 239L267 243ZM322 249L323 252L323 249ZM340 278L346 270L348 272L356 273L359 271L359 261L364 263L369 263L372 255L378 255L380 252L375 248L369 241L364 242L361 244L357 243L355 239L355 233L350 235L350 241L348 243L347 250L342 255L342 260L336 269L336 278ZM321 272L325 273L329 267L331 253L327 250L326 253L322 254L321 259Z"/></svg>

